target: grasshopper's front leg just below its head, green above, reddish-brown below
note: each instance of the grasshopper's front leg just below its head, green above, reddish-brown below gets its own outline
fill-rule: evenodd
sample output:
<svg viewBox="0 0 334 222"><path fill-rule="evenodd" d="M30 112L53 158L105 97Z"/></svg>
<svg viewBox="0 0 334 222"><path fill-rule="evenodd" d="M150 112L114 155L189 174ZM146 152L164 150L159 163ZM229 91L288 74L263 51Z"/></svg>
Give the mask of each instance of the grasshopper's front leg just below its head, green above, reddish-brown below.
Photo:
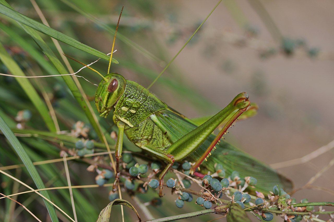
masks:
<svg viewBox="0 0 334 222"><path fill-rule="evenodd" d="M116 142L116 150L115 150L115 157L116 157L116 176L113 185L113 191L117 191L117 185L120 180L121 171L120 171L120 159L122 157L122 149L123 149L123 136L124 136L124 127L125 123L122 121L117 122L118 127L118 137Z"/></svg>

